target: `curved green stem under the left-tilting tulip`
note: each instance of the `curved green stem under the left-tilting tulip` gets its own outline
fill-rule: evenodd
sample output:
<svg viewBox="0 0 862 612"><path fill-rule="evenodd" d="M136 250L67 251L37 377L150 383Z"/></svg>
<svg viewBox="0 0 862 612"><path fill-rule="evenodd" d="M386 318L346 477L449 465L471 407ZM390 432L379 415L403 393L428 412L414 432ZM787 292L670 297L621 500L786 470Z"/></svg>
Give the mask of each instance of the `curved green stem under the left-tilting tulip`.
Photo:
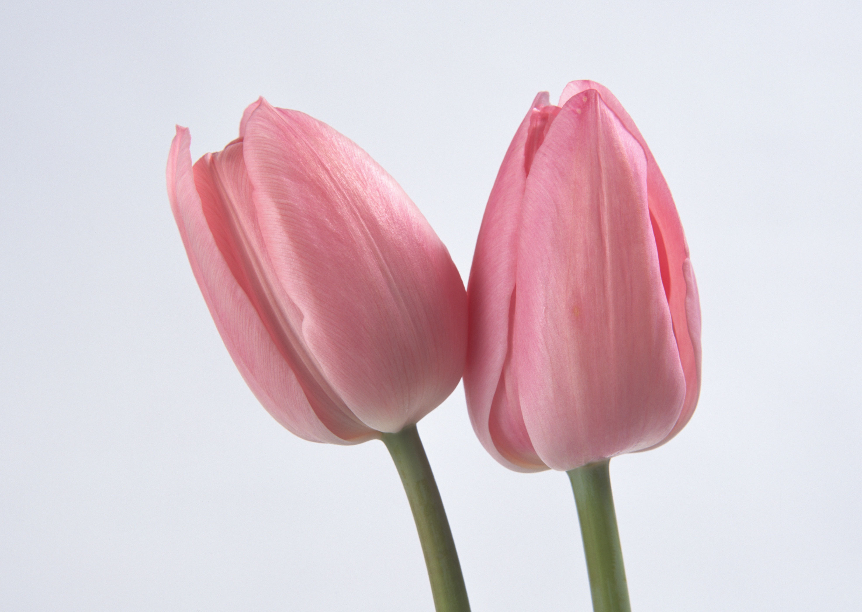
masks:
<svg viewBox="0 0 862 612"><path fill-rule="evenodd" d="M437 612L469 612L455 541L416 426L383 434L413 511Z"/></svg>

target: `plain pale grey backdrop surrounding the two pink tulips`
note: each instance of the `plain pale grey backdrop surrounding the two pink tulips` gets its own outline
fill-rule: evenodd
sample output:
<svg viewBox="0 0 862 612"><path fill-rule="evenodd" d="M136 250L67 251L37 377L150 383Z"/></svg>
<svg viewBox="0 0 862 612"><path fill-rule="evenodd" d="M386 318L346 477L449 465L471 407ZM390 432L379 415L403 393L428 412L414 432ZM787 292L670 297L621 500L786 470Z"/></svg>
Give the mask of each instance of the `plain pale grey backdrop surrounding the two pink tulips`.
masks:
<svg viewBox="0 0 862 612"><path fill-rule="evenodd" d="M611 464L634 609L859 605L859 3L6 3L0 609L431 610L379 442L260 408L169 211L259 95L364 147L466 279L536 91L593 78L676 197L703 303L682 434ZM588 610L564 474L421 424L473 609Z"/></svg>

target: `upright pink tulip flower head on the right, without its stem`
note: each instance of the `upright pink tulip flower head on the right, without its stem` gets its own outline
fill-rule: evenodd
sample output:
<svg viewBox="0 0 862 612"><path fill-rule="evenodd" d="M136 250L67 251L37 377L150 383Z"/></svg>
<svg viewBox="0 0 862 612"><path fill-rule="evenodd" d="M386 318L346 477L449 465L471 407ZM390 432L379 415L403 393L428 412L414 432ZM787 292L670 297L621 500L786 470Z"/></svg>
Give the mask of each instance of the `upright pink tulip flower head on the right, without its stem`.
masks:
<svg viewBox="0 0 862 612"><path fill-rule="evenodd" d="M700 303L665 178L622 105L540 93L491 190L468 285L473 428L516 471L670 440L700 392Z"/></svg>

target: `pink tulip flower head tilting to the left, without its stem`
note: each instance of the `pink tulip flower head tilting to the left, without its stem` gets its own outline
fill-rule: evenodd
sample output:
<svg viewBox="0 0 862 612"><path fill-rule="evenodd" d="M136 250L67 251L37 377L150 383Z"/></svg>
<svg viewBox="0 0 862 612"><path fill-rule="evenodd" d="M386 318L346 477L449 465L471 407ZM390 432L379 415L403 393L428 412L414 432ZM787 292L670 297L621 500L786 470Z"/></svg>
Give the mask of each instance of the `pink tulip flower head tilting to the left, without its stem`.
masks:
<svg viewBox="0 0 862 612"><path fill-rule="evenodd" d="M173 214L228 352L275 419L354 444L419 421L458 384L464 284L401 187L328 125L263 98L191 165L177 128Z"/></svg>

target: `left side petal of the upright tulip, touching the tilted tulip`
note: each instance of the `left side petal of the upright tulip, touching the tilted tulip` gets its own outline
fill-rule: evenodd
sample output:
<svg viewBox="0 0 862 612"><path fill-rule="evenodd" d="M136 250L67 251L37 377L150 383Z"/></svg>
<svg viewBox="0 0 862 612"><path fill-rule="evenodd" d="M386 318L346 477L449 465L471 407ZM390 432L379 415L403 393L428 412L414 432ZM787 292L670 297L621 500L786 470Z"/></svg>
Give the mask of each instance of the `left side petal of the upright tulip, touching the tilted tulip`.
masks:
<svg viewBox="0 0 862 612"><path fill-rule="evenodd" d="M515 303L515 252L527 179L525 148L531 116L547 103L546 91L535 97L503 158L479 229L467 289L470 304L470 341L464 371L467 408L473 429L485 449L516 471L546 469L529 442L515 379L508 372L510 310Z"/></svg>

